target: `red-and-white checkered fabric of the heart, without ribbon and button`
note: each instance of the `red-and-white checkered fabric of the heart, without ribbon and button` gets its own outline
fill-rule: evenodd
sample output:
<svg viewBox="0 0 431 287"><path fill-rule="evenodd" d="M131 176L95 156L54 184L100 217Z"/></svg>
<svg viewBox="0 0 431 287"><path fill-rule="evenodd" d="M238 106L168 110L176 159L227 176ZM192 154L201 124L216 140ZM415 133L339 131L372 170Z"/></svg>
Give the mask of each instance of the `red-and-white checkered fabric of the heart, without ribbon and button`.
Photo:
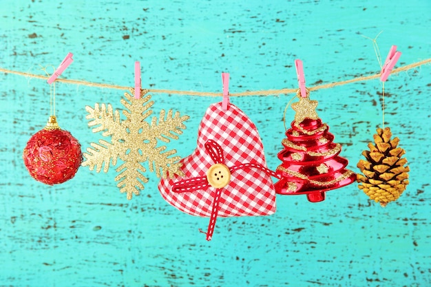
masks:
<svg viewBox="0 0 431 287"><path fill-rule="evenodd" d="M262 140L251 120L235 105L229 104L227 110L222 109L222 103L211 105L199 126L198 147L181 160L185 176L165 178L158 184L162 197L169 204L202 217L211 215L216 189L207 187L174 193L172 187L179 180L206 176L214 164L204 147L208 140L214 140L222 147L228 167L243 163L266 167ZM222 188L218 217L270 215L274 212L275 189L270 176L258 169L238 170L231 174L231 182Z"/></svg>

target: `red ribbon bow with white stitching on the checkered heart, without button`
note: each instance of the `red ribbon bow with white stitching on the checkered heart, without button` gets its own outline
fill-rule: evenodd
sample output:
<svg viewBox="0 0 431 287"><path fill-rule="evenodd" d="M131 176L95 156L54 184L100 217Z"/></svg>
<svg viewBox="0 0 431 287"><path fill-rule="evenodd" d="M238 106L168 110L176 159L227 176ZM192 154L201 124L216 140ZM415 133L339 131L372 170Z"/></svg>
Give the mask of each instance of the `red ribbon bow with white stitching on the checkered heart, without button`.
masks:
<svg viewBox="0 0 431 287"><path fill-rule="evenodd" d="M222 147L215 142L214 140L207 140L204 145L205 149L207 149L209 156L213 160L215 164L224 164L224 153L222 150ZM259 169L260 171L264 171L264 173L268 174L269 176L273 176L274 178L279 178L277 174L275 174L274 171L271 171L270 169L267 169L266 167L262 166L262 164L254 164L254 163L242 163L235 165L233 167L228 167L229 171L231 173L238 171L238 169ZM182 192L190 192L190 191L197 191L200 189L207 189L210 187L210 184L208 182L207 176L200 176L197 178L188 178L185 180L180 180L179 182L174 183L174 187L172 187L172 191L176 193L182 193ZM222 194L223 187L215 189L215 196L213 199L213 208L211 209L211 217L209 220L208 225L208 231L205 233L207 235L207 240L210 241L211 237L213 236L214 227L215 227L215 220L217 220L217 214L219 209L219 202L220 202L220 195ZM204 233L199 229L200 232Z"/></svg>

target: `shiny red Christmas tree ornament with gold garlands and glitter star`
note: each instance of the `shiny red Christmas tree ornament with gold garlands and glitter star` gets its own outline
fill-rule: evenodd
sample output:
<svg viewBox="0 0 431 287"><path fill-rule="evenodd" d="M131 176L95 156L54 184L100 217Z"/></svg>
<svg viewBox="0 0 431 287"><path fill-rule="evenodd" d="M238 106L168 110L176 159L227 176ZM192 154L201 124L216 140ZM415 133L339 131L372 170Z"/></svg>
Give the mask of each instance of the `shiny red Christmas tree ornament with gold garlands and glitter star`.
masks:
<svg viewBox="0 0 431 287"><path fill-rule="evenodd" d="M278 153L282 164L277 167L281 180L274 184L282 195L306 194L310 202L321 202L325 192L344 187L356 180L356 174L346 169L348 160L341 158L341 145L333 142L329 127L317 116L316 100L300 96L293 103L296 111L291 128L282 140L284 149Z"/></svg>

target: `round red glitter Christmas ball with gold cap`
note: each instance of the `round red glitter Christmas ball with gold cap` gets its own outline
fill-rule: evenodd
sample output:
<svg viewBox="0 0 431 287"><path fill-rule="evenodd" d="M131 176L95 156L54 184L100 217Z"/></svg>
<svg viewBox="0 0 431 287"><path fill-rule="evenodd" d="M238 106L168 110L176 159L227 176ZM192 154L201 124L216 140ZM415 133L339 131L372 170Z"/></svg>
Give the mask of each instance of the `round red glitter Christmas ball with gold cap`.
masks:
<svg viewBox="0 0 431 287"><path fill-rule="evenodd" d="M27 142L23 160L30 176L45 184L59 184L75 176L82 162L81 145L60 129L55 116Z"/></svg>

